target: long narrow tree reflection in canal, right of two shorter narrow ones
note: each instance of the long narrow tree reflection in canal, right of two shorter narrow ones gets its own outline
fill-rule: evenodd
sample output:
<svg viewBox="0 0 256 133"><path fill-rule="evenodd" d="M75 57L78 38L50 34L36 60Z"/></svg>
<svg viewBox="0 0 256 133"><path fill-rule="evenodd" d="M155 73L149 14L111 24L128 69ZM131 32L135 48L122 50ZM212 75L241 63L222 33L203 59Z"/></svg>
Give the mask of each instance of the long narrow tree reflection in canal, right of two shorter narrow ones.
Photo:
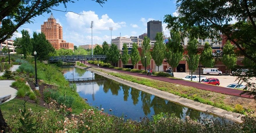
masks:
<svg viewBox="0 0 256 133"><path fill-rule="evenodd" d="M151 94L141 91L142 109L145 115L150 113Z"/></svg>

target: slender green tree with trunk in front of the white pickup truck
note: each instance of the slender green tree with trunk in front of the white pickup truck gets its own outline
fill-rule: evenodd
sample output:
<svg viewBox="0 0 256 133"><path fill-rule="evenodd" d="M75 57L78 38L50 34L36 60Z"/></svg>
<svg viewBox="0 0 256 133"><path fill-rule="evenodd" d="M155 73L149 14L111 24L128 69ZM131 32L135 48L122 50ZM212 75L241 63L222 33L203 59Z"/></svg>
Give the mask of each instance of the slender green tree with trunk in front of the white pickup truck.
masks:
<svg viewBox="0 0 256 133"><path fill-rule="evenodd" d="M191 39L187 47L188 57L186 58L186 60L189 65L189 70L191 71L191 81L192 81L193 72L197 69L199 58L200 58L199 54L197 53L198 52L197 44L198 44L197 39Z"/></svg>

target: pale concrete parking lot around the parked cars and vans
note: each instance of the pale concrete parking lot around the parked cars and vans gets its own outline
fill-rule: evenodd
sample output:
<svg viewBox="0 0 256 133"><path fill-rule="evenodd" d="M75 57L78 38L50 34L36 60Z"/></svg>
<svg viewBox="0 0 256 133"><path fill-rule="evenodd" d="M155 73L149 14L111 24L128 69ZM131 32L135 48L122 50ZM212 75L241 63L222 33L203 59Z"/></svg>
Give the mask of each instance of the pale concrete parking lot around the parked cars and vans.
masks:
<svg viewBox="0 0 256 133"><path fill-rule="evenodd" d="M184 78L186 77L187 75L189 75L189 73L182 73L182 72L174 72L174 77L177 77L177 78ZM199 73L193 73L193 75L197 75L199 76ZM222 87L226 87L227 85L229 84L232 84L232 83L238 83L238 81L235 81L237 76L232 76L232 75L201 75L201 76L205 76L207 78L217 78L220 80L220 86ZM254 82L256 83L256 79L253 78L251 80L251 82ZM245 85L246 83L242 83L243 85Z"/></svg>

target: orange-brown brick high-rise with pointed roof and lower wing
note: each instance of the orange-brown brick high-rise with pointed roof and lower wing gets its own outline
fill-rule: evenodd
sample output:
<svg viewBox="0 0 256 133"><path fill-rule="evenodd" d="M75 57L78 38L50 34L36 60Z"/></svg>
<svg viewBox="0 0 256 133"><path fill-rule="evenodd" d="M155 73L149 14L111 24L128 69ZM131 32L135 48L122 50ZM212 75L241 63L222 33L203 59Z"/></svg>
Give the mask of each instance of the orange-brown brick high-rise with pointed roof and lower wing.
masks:
<svg viewBox="0 0 256 133"><path fill-rule="evenodd" d="M45 34L46 39L51 43L55 49L72 49L74 50L73 43L67 43L63 40L62 26L56 23L56 19L51 13L47 22L41 25L41 32Z"/></svg>

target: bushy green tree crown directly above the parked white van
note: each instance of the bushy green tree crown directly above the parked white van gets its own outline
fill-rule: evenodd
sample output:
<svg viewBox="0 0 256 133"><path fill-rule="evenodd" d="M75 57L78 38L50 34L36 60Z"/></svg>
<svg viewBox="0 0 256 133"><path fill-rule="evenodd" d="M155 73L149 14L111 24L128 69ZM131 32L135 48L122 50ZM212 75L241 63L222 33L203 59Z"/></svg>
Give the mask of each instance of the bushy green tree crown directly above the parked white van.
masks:
<svg viewBox="0 0 256 133"><path fill-rule="evenodd" d="M200 55L200 63L206 68L212 68L215 60L212 55L212 48L208 42L205 43L204 49Z"/></svg>

